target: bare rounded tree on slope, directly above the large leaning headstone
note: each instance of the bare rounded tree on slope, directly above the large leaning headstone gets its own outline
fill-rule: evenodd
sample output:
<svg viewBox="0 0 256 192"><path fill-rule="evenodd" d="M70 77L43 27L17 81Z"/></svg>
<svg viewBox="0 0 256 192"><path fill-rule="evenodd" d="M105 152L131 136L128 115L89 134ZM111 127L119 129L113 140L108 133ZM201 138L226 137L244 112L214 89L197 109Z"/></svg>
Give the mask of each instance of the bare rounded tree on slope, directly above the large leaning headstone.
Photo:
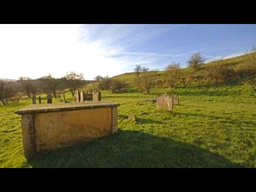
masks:
<svg viewBox="0 0 256 192"><path fill-rule="evenodd" d="M181 78L180 63L172 62L169 64L165 69L164 78L168 86L174 88L177 81Z"/></svg>

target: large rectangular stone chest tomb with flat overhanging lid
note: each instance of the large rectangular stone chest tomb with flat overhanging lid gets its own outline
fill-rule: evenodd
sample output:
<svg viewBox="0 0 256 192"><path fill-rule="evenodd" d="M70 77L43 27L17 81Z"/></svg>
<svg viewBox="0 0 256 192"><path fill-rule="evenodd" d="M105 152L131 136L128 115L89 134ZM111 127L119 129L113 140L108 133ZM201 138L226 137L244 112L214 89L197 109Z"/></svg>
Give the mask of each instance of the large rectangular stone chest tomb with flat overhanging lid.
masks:
<svg viewBox="0 0 256 192"><path fill-rule="evenodd" d="M32 104L16 111L22 118L24 154L70 146L113 134L117 127L118 103L83 102Z"/></svg>

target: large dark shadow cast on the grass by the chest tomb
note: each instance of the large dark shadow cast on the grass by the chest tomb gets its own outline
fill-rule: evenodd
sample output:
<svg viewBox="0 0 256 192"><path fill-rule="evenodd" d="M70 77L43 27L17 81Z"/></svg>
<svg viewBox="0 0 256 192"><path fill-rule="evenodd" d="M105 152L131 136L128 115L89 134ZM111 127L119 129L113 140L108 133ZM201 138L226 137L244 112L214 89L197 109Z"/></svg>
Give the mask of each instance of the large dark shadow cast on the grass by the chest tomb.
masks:
<svg viewBox="0 0 256 192"><path fill-rule="evenodd" d="M143 132L119 130L91 142L38 154L34 168L241 168L198 146Z"/></svg>

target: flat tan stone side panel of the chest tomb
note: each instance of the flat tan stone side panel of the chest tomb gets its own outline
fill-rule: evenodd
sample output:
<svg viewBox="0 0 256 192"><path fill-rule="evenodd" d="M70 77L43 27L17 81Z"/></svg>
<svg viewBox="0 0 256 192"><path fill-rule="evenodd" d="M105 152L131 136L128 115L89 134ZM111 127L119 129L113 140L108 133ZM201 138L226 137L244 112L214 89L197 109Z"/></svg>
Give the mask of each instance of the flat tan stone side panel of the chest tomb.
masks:
<svg viewBox="0 0 256 192"><path fill-rule="evenodd" d="M111 133L110 108L40 113L36 116L37 151L62 148Z"/></svg>

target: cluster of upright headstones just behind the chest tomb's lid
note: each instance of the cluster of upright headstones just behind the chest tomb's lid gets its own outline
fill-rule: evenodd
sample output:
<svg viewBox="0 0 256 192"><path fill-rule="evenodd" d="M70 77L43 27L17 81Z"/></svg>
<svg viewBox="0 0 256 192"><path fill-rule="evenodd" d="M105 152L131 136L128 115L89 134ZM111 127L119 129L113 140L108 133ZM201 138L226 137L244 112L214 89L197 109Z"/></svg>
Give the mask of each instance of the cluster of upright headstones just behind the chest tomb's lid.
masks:
<svg viewBox="0 0 256 192"><path fill-rule="evenodd" d="M100 91L94 90L92 93L76 90L74 102L80 103L84 101L100 101L101 93Z"/></svg>

